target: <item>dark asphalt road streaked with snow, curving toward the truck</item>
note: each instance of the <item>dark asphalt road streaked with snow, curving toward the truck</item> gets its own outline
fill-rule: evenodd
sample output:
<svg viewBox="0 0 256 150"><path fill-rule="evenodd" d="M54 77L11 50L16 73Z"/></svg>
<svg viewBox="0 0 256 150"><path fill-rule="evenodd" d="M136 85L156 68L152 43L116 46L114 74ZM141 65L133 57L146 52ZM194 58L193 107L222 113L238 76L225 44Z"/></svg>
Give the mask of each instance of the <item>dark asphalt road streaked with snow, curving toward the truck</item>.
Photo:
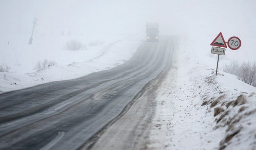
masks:
<svg viewBox="0 0 256 150"><path fill-rule="evenodd" d="M87 149L170 66L173 44L143 42L116 68L1 94L0 149Z"/></svg>

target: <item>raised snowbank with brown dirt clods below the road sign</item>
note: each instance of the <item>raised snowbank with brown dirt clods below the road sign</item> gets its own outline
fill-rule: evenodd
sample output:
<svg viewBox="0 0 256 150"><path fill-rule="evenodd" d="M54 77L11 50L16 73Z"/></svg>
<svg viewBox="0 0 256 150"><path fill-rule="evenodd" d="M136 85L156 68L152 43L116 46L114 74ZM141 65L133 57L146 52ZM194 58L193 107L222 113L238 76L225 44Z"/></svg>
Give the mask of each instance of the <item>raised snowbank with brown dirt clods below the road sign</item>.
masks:
<svg viewBox="0 0 256 150"><path fill-rule="evenodd" d="M205 77L197 72L194 85L202 100L201 107L214 116L213 130L224 133L219 149L255 149L256 88L225 72L217 77L213 69L207 72L211 75Z"/></svg>

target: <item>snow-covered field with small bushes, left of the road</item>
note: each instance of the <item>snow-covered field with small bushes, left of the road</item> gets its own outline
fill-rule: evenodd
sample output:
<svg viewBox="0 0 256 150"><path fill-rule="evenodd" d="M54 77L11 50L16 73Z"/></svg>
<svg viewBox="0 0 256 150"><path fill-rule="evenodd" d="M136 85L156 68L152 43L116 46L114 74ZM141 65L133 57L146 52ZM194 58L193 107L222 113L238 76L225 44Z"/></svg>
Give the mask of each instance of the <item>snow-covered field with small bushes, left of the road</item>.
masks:
<svg viewBox="0 0 256 150"><path fill-rule="evenodd" d="M131 58L142 38L138 35L38 35L32 45L28 44L29 36L10 38L9 45L7 39L0 40L0 65L7 64L11 69L0 72L0 92L74 79L116 67ZM67 50L65 44L74 39L83 47L78 51ZM44 70L35 69L36 64L44 60L55 64Z"/></svg>

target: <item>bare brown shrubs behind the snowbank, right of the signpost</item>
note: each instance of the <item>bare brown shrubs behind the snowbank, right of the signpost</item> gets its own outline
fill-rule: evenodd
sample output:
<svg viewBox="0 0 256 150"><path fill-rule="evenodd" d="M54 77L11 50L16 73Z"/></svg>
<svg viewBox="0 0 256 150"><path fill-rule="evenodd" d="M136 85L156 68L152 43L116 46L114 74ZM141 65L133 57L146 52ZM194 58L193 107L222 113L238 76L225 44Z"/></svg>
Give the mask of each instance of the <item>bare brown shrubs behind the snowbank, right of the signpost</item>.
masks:
<svg viewBox="0 0 256 150"><path fill-rule="evenodd" d="M256 62L243 62L239 64L236 61L226 64L223 71L234 74L237 78L251 86L256 87Z"/></svg>

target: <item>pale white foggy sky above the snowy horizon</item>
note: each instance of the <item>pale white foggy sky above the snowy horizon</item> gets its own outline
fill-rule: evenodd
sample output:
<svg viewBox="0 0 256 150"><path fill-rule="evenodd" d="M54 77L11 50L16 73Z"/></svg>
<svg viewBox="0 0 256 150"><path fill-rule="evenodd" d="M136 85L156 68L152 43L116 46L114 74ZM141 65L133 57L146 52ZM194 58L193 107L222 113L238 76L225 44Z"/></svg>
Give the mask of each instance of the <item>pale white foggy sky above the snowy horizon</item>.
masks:
<svg viewBox="0 0 256 150"><path fill-rule="evenodd" d="M256 33L253 0L1 0L1 36L31 34L140 33L158 22L161 34L236 36Z"/></svg>

